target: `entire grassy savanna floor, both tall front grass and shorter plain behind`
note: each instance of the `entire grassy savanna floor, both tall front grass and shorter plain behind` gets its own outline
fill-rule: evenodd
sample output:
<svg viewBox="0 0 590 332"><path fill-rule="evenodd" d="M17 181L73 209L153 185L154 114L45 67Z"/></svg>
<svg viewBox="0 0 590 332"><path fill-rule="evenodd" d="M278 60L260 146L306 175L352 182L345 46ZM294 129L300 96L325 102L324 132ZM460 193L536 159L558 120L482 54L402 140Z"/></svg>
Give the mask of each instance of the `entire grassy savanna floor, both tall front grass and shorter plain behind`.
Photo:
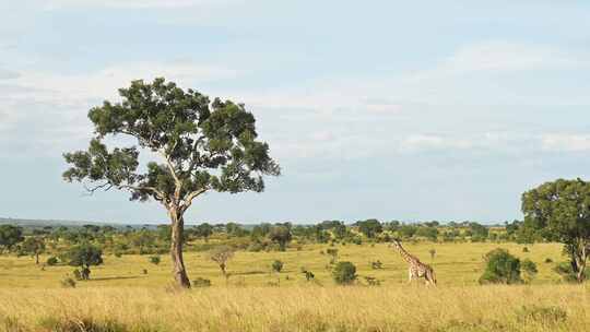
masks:
<svg viewBox="0 0 590 332"><path fill-rule="evenodd" d="M229 278L202 252L187 252L191 278L212 287L176 290L169 259L105 256L92 280L61 288L68 265L35 265L0 257L3 331L589 331L590 287L566 285L552 271L563 261L556 244L405 244L432 264L438 287L406 285L406 264L386 244L305 245L286 252L236 252ZM539 273L530 285L477 284L482 257L502 247L529 258ZM523 252L528 247L529 252ZM357 266L358 283L337 286L328 248ZM430 249L436 250L434 259ZM323 252L323 254L321 253ZM271 272L274 260L284 262ZM371 261L382 262L374 270ZM307 282L302 268L312 271ZM144 271L146 270L146 274ZM380 281L367 286L365 276Z"/></svg>

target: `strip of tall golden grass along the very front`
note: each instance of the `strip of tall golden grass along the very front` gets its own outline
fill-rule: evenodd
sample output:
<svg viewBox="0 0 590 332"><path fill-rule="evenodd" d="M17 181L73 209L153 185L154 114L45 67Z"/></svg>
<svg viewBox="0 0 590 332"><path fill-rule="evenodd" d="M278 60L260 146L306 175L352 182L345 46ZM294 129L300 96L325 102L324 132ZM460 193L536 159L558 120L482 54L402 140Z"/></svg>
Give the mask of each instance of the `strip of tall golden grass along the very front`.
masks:
<svg viewBox="0 0 590 332"><path fill-rule="evenodd" d="M0 331L590 331L590 287L0 289Z"/></svg>

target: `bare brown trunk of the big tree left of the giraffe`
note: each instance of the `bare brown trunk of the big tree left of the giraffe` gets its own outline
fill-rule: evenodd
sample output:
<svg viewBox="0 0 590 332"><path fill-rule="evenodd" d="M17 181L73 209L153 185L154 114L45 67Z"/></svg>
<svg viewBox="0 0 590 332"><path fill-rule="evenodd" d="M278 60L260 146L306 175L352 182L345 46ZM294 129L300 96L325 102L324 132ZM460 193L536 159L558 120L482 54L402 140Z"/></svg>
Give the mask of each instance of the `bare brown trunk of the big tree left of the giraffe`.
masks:
<svg viewBox="0 0 590 332"><path fill-rule="evenodd" d="M182 212L177 208L172 208L168 213L172 222L170 256L173 260L174 280L176 280L178 286L190 288L190 282L185 268L185 260L182 259L182 233L185 232Z"/></svg>

